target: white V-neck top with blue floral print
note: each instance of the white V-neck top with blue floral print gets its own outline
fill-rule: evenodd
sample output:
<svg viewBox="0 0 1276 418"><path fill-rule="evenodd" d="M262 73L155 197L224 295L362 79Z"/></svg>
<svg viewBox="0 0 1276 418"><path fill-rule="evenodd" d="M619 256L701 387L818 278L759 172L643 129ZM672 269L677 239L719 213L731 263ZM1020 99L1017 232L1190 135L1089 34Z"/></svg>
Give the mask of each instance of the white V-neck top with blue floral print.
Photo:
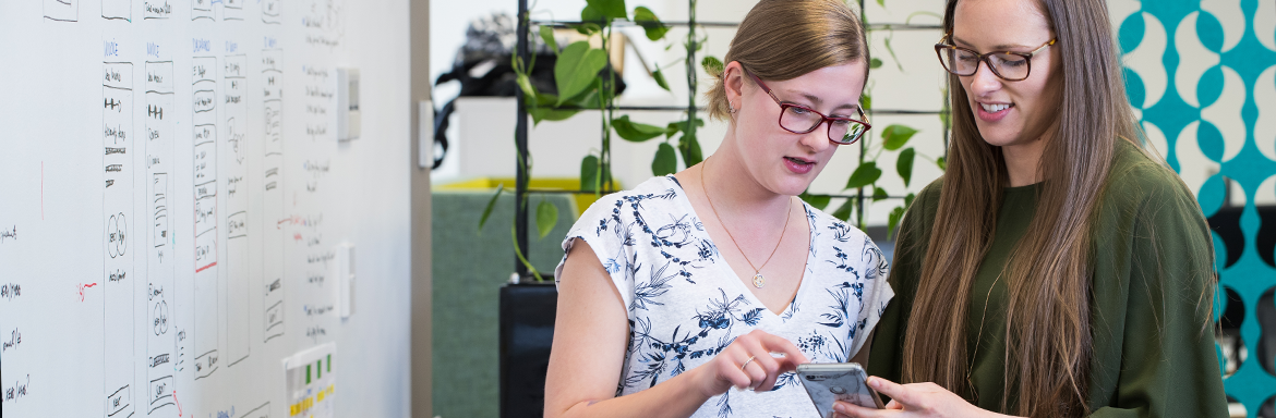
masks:
<svg viewBox="0 0 1276 418"><path fill-rule="evenodd" d="M709 240L674 176L604 196L572 226L611 275L629 315L629 347L616 396L703 364L752 330L782 336L817 363L846 362L887 302L887 261L872 240L810 205L810 254L798 294L781 315L766 308ZM567 256L563 257L563 263ZM563 263L555 271L561 283ZM794 373L771 391L727 390L692 417L817 417Z"/></svg>

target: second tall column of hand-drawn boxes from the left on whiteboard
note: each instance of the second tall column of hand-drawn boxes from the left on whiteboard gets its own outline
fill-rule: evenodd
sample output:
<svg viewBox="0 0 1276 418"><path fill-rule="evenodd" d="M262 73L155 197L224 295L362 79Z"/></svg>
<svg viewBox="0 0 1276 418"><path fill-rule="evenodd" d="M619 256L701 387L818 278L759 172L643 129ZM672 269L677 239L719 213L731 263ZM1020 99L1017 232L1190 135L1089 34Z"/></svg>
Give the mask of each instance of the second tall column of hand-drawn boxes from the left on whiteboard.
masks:
<svg viewBox="0 0 1276 418"><path fill-rule="evenodd" d="M156 47L158 51L158 47ZM158 54L156 54L158 55ZM176 356L177 339L174 331L172 307L177 259L174 256L172 195L170 173L174 164L174 79L172 61L153 61L145 65L145 125L147 125L147 192L151 227L147 233L147 303L149 329L147 334L147 389L148 413L172 407L174 370L180 361Z"/></svg>

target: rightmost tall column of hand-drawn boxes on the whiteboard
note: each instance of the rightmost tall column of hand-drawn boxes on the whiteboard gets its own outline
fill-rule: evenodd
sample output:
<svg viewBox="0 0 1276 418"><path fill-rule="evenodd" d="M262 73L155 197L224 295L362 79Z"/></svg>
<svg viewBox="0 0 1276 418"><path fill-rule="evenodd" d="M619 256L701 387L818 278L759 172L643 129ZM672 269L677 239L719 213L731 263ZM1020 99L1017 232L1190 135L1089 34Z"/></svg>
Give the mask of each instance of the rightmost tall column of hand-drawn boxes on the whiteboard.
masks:
<svg viewBox="0 0 1276 418"><path fill-rule="evenodd" d="M264 5L263 5L264 8ZM262 51L262 108L265 135L262 190L262 282L264 282L264 342L283 335L283 61L282 50Z"/></svg>

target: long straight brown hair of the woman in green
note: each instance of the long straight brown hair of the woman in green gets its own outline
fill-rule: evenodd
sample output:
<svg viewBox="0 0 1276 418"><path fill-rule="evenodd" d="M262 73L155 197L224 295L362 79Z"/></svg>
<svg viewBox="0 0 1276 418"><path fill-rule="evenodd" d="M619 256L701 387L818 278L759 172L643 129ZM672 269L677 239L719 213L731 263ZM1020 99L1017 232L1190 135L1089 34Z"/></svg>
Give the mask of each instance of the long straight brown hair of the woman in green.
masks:
<svg viewBox="0 0 1276 418"><path fill-rule="evenodd" d="M944 29L953 31L958 0ZM1005 270L1002 409L1028 417L1087 413L1091 358L1090 241L1118 138L1141 138L1104 0L1040 0L1059 50L1062 93L1039 164L1037 205ZM984 141L966 92L948 78L952 143L939 208L903 344L903 381L933 381L971 396L966 316L975 274L997 227L1004 157ZM1008 399L1016 399L1008 405ZM1011 410L1013 409L1013 410Z"/></svg>

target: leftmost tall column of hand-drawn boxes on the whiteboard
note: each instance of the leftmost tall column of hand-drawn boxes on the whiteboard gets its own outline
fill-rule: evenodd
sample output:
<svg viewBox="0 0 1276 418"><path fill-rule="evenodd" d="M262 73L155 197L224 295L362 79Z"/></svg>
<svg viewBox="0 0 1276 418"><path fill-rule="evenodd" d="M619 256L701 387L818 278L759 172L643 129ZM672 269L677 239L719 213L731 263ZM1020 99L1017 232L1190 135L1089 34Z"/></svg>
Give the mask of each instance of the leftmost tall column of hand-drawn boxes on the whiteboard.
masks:
<svg viewBox="0 0 1276 418"><path fill-rule="evenodd" d="M106 415L133 415L133 64L102 64L102 292Z"/></svg>

